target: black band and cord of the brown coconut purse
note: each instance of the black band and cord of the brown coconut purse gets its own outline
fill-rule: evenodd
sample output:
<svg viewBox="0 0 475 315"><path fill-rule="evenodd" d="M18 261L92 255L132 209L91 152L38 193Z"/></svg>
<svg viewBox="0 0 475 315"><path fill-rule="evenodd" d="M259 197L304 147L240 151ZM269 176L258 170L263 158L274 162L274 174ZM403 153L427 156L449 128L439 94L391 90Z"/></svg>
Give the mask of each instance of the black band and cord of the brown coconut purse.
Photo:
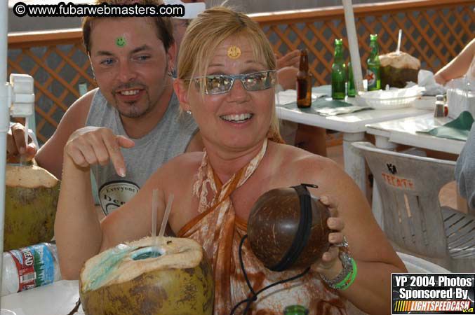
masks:
<svg viewBox="0 0 475 315"><path fill-rule="evenodd" d="M300 222L299 222L299 226L297 228L295 237L293 239L292 246L289 248L286 255L283 255L283 258L281 259L281 261L279 261L276 265L272 266L272 268L275 268L275 269L269 268L272 271L283 271L283 270L288 269L288 267L290 267L297 260L297 258L300 256L300 253L302 253L303 248L305 248L305 245L307 244L307 240L309 239L309 236L310 236L310 230L312 228L312 203L311 203L312 197L310 197L310 193L309 193L309 190L307 190L307 187L318 188L319 186L302 183L299 186L292 187L297 191L297 194L299 197ZM239 263L241 264L241 270L243 271L244 279L246 279L246 283L248 284L248 287L252 296L236 304L231 310L231 313L229 313L230 315L233 315L236 309L238 309L238 307L241 306L241 304L243 303L247 303L247 304L242 314L243 315L248 314L250 304L252 304L252 302L257 300L257 295L259 293L261 293L264 290L267 290L268 288L272 288L273 286L277 286L278 284L285 283L288 281L293 281L295 279L300 278L301 276L305 276L305 274L307 274L307 272L309 272L310 270L310 267L307 267L307 269L305 269L303 272L300 272L300 274L291 276L288 279L283 279L281 281L271 283L269 284L269 286L266 286L265 288L262 288L258 290L257 292L255 292L253 289L253 286L250 285L248 274L246 272L246 269L244 268L244 262L243 262L242 247L247 237L248 235L244 235L241 238L241 242L239 243ZM292 248L295 248L295 250L293 250ZM279 267L279 270L276 267Z"/></svg>

